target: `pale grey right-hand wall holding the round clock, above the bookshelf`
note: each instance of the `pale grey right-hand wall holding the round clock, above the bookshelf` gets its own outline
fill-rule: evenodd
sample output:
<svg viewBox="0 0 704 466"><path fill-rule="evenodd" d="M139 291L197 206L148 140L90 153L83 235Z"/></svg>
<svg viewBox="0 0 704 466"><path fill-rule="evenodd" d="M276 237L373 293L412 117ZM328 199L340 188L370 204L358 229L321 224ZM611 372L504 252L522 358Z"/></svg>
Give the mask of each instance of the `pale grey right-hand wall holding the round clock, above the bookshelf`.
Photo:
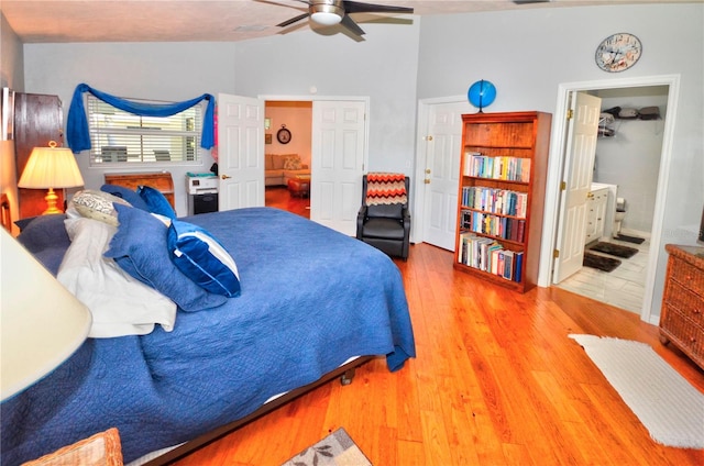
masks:
<svg viewBox="0 0 704 466"><path fill-rule="evenodd" d="M598 43L616 32L644 44L631 69L608 74L594 64ZM424 18L418 97L457 96L487 79L497 88L485 111L557 113L560 84L680 75L672 164L666 180L661 244L694 244L704 203L704 5L648 4L530 9ZM556 127L553 121L553 127ZM550 154L557 163L559 148ZM550 219L554 212L546 212ZM659 314L667 255L656 270L651 313Z"/></svg>

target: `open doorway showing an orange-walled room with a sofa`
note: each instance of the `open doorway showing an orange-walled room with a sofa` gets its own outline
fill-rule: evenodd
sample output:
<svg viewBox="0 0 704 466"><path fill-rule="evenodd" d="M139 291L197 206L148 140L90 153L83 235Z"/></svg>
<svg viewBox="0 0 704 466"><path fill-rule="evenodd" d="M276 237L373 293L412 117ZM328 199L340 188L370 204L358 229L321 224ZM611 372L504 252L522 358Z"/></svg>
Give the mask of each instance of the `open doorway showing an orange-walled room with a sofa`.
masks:
<svg viewBox="0 0 704 466"><path fill-rule="evenodd" d="M312 101L264 102L264 204L310 218Z"/></svg>

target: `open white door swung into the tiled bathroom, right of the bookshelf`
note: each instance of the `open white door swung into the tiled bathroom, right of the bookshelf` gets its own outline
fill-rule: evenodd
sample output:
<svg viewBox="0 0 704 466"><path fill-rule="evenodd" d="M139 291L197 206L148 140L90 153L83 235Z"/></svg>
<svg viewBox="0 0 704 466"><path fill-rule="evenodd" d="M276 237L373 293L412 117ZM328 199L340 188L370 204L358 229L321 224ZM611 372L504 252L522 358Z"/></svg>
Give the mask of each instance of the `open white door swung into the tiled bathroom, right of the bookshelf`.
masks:
<svg viewBox="0 0 704 466"><path fill-rule="evenodd" d="M566 157L562 176L557 244L552 279L559 284L582 268L586 211L594 174L594 156L602 99L585 92L572 95L568 125Z"/></svg>

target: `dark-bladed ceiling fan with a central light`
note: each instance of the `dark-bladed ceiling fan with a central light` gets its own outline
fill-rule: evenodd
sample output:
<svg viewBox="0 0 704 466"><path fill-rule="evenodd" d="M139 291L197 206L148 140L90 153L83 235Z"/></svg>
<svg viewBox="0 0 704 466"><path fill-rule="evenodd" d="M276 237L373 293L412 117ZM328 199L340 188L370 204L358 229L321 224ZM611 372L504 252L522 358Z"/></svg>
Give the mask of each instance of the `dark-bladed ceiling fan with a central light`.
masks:
<svg viewBox="0 0 704 466"><path fill-rule="evenodd" d="M302 19L310 18L311 21L331 26L341 24L350 32L356 35L364 35L364 31L360 27L350 13L413 13L413 8L391 7L384 4L362 3L350 0L296 0L308 5L308 12L276 24L279 27L294 24Z"/></svg>

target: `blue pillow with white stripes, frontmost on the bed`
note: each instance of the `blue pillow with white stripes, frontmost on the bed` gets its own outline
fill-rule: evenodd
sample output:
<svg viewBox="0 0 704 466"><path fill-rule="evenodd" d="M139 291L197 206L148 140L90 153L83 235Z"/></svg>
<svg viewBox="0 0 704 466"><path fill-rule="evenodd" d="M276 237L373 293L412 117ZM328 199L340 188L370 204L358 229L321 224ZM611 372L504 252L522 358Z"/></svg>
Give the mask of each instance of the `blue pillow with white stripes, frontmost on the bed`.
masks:
<svg viewBox="0 0 704 466"><path fill-rule="evenodd" d="M232 298L240 295L240 275L224 246L200 226L173 220L168 228L172 260L199 287Z"/></svg>

